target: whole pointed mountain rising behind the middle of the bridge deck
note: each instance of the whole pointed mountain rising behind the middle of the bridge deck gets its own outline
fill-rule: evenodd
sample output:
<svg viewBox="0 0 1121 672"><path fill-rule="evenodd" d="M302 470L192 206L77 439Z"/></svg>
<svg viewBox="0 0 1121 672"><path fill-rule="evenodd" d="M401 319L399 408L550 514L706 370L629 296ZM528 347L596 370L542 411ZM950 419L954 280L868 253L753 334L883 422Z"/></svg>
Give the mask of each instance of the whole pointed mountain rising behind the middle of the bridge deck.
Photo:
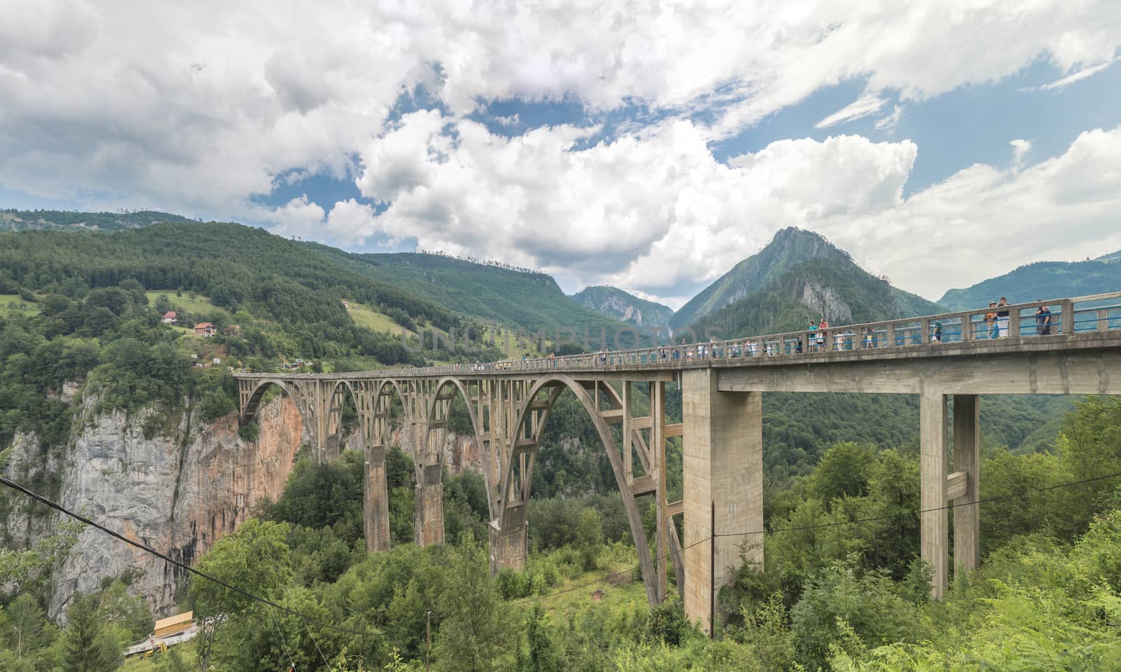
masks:
<svg viewBox="0 0 1121 672"><path fill-rule="evenodd" d="M694 333L703 337L715 330L719 338L736 338L795 331L823 316L832 324L853 324L943 312L872 276L821 236L799 229L779 231L758 255L698 294L703 298L695 312L736 296L704 312L689 325Z"/></svg>

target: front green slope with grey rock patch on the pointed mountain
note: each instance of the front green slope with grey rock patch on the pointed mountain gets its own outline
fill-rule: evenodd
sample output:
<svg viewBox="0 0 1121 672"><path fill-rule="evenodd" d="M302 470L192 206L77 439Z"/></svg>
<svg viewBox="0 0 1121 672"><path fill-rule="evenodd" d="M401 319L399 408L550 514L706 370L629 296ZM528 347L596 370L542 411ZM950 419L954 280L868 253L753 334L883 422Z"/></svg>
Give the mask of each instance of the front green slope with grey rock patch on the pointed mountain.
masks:
<svg viewBox="0 0 1121 672"><path fill-rule="evenodd" d="M798 233L805 238L807 232ZM767 282L697 320L694 332L703 335L713 330L719 338L735 338L795 331L822 316L839 325L943 312L937 304L870 275L843 251L819 240L831 249L818 247L815 256L795 264L784 252L797 257L797 249L776 237L768 248L778 243L778 249L765 249L754 258L772 260L780 270L757 264L758 276Z"/></svg>

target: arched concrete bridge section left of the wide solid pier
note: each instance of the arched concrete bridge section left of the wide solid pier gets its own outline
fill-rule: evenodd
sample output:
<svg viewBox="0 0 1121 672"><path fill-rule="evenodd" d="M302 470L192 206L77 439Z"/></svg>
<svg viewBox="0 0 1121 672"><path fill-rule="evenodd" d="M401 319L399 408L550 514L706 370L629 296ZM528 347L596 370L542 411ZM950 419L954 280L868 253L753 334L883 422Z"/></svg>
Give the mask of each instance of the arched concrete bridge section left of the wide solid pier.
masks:
<svg viewBox="0 0 1121 672"><path fill-rule="evenodd" d="M315 457L319 461L340 454L342 413L348 404L358 415L365 453L364 532L369 551L389 549L389 500L386 448L393 401L407 431L402 445L414 459L416 478L415 543L444 541L444 445L452 404L465 403L474 439L483 461L490 513L491 570L521 569L528 553L528 516L532 472L545 422L557 398L571 390L589 413L611 461L615 482L623 494L628 523L639 558L651 552L642 527L640 497L654 497L658 513L658 561L642 564L642 578L651 604L666 597L667 556L682 576L680 543L671 516L680 515L682 501L666 501L666 439L682 435L682 424L666 424L666 381L673 375L552 374L545 376L489 375L487 377L434 376L420 378L313 377L257 375L239 377L241 422L250 422L271 387L282 389L304 418ZM634 386L646 387L649 413L634 414ZM621 431L612 431L621 425ZM621 438L629 436L623 441ZM628 445L629 443L629 445Z"/></svg>

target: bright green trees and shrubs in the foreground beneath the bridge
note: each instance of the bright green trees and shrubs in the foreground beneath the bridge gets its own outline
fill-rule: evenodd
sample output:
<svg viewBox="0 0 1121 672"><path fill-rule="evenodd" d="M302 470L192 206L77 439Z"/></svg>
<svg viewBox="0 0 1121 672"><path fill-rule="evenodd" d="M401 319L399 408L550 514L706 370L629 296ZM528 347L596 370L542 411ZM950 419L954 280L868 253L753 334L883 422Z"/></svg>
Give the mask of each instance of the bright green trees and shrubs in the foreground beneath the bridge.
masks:
<svg viewBox="0 0 1121 672"><path fill-rule="evenodd" d="M769 494L766 564L721 591L728 623L713 639L676 598L646 607L629 534L601 498L536 498L529 564L492 578L481 479L445 475L456 541L417 549L405 542L411 466L398 450L389 462L392 551L363 550L362 457L304 459L281 497L197 565L289 611L195 578L183 607L222 617L127 669L1073 671L1121 660L1121 477L1101 478L1121 463L1117 398L1081 402L1045 452L983 458L983 564L941 601L917 561L915 451L831 445ZM16 565L0 564L20 587L0 610L3 670L108 672L150 628L127 577L75 600L58 628L34 572Z"/></svg>

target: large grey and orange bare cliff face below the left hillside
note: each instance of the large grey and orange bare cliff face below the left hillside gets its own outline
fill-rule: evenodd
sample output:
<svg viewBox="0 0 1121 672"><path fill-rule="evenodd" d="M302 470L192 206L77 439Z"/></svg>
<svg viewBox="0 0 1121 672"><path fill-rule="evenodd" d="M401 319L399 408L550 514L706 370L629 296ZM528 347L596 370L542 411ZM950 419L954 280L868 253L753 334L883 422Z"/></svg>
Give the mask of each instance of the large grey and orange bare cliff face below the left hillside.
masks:
<svg viewBox="0 0 1121 672"><path fill-rule="evenodd" d="M147 413L83 413L62 467L61 504L188 563L233 531L259 499L280 494L303 435L299 413L286 397L262 408L253 442L238 438L232 415L203 426L185 415L174 435L146 439L140 427ZM52 615L64 611L75 591L96 590L103 578L126 572L138 576L132 590L154 613L166 614L175 604L182 570L85 530L55 572Z"/></svg>

